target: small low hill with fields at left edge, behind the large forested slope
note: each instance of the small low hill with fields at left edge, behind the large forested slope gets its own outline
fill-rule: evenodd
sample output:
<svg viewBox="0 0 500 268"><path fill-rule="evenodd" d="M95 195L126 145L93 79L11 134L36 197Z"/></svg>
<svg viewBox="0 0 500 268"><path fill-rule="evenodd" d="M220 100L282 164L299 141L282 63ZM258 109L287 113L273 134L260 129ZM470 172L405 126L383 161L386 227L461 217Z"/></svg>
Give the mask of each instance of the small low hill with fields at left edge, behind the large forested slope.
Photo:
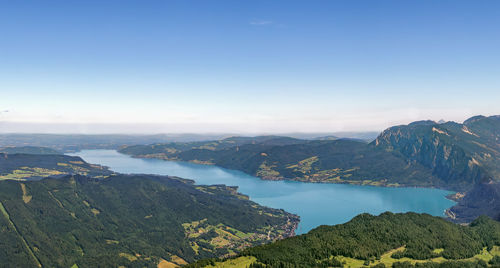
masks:
<svg viewBox="0 0 500 268"><path fill-rule="evenodd" d="M33 151L33 149L30 150ZM106 167L89 164L77 156L0 153L0 181L5 179L33 180L65 174L103 177L112 172Z"/></svg>

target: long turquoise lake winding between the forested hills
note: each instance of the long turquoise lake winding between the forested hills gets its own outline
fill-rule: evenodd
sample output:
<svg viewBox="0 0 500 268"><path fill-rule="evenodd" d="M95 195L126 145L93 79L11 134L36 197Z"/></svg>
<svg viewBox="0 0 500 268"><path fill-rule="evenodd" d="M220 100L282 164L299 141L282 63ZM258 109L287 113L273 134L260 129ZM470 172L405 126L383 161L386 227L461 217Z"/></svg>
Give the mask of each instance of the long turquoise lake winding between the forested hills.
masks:
<svg viewBox="0 0 500 268"><path fill-rule="evenodd" d="M216 166L132 158L114 150L84 150L73 155L120 173L171 175L192 179L196 184L238 186L238 191L252 201L300 215L297 234L322 224L344 223L363 212L378 215L384 211L414 211L444 216L444 211L455 204L445 198L451 192L439 189L264 181Z"/></svg>

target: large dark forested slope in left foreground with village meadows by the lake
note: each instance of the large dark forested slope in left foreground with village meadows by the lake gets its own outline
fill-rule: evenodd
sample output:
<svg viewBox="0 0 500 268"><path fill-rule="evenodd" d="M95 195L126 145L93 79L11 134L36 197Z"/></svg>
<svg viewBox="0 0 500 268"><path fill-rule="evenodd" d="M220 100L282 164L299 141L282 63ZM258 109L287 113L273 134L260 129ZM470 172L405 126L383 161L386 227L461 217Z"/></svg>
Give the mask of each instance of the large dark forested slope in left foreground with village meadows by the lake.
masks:
<svg viewBox="0 0 500 268"><path fill-rule="evenodd" d="M2 267L183 264L290 236L298 222L232 187L152 175L0 181L0 210Z"/></svg>

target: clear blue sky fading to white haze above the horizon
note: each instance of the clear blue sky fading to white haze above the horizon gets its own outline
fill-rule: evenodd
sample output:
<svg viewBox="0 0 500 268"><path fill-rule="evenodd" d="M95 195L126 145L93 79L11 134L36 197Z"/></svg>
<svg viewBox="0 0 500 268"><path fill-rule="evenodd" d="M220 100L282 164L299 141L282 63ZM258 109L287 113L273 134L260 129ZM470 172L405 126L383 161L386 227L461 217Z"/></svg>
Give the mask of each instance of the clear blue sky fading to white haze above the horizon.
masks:
<svg viewBox="0 0 500 268"><path fill-rule="evenodd" d="M499 101L500 1L0 0L0 132L381 130Z"/></svg>

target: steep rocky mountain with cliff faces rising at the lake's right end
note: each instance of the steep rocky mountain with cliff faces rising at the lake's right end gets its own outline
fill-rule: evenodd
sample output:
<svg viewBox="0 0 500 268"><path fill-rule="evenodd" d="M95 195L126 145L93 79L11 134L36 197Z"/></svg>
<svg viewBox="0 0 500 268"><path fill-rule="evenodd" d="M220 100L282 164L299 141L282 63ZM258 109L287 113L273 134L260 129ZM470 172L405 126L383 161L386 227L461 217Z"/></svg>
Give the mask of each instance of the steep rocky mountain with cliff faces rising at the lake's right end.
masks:
<svg viewBox="0 0 500 268"><path fill-rule="evenodd" d="M432 169L456 190L500 180L500 118L477 116L458 124L420 121L391 127L372 143Z"/></svg>

